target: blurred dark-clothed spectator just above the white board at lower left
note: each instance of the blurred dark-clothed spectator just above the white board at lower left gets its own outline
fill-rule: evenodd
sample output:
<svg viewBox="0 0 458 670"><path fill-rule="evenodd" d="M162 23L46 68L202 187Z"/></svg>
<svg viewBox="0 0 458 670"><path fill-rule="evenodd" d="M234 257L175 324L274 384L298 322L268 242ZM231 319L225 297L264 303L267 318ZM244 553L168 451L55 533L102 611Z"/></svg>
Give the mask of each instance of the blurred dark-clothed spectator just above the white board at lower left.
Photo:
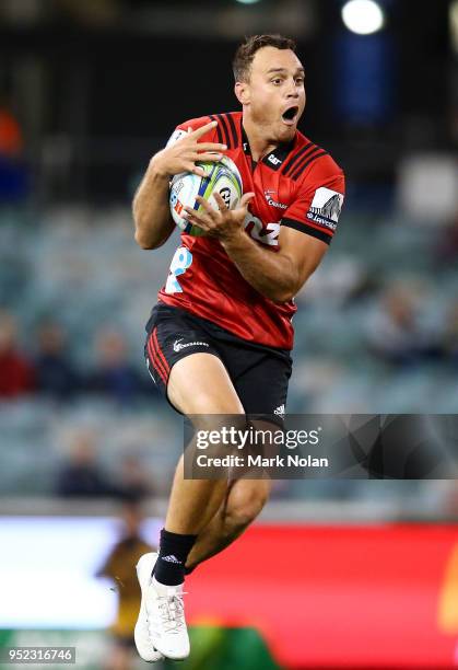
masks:
<svg viewBox="0 0 458 670"><path fill-rule="evenodd" d="M116 493L95 459L95 440L91 432L79 432L70 462L57 475L56 493L61 497L103 498Z"/></svg>

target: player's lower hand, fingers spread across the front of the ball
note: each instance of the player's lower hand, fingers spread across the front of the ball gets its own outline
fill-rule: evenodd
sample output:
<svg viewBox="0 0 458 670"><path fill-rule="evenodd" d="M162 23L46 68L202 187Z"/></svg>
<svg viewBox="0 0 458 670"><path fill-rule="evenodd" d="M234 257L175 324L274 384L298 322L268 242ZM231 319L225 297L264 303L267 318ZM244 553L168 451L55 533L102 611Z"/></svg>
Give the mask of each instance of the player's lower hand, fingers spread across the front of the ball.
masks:
<svg viewBox="0 0 458 670"><path fill-rule="evenodd" d="M219 209L214 209L210 203L201 196L197 196L196 200L202 209L196 211L191 207L185 207L186 213L181 216L190 223L199 226L209 238L218 238L220 242L228 242L244 232L244 221L248 213L248 205L251 198L255 197L255 194L246 193L242 196L240 203L235 209L227 209L219 193L214 193L213 197Z"/></svg>

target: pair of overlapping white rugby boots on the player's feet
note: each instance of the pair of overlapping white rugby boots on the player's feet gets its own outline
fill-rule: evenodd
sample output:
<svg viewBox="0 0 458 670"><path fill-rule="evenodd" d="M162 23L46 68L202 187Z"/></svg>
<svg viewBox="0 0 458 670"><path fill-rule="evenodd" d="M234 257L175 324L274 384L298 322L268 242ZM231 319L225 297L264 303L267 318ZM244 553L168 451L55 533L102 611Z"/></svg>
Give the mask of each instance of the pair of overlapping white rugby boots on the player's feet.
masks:
<svg viewBox="0 0 458 670"><path fill-rule="evenodd" d="M156 559L157 554L144 554L137 565L142 590L142 608L137 625L142 621L141 629L146 631L145 637L151 649L166 658L183 660L190 651L183 584L171 587L151 577Z"/></svg>

